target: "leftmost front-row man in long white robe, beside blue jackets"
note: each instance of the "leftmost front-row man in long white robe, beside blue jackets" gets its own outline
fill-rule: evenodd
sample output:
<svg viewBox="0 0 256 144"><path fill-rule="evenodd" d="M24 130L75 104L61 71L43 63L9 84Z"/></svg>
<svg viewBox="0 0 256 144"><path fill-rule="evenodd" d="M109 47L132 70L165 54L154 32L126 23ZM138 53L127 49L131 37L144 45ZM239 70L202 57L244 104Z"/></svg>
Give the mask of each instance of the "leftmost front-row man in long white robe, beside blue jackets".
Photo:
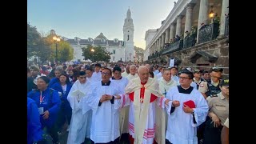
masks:
<svg viewBox="0 0 256 144"><path fill-rule="evenodd" d="M91 93L90 82L86 80L86 73L79 72L78 80L74 82L67 96L72 108L70 130L67 144L81 144L85 138L90 138L90 125L92 110L82 111L83 101Z"/></svg>

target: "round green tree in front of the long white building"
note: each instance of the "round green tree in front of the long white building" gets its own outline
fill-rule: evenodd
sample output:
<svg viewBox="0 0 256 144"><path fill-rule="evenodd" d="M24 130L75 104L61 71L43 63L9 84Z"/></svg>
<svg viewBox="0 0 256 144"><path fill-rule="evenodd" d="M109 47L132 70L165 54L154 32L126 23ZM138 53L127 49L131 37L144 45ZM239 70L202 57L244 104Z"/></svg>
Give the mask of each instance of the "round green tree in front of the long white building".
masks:
<svg viewBox="0 0 256 144"><path fill-rule="evenodd" d="M94 52L91 50L94 49ZM110 53L107 51L105 48L102 46L91 46L87 45L86 47L82 47L82 56L84 56L84 60L90 59L93 62L99 62L99 61L104 61L104 62L110 62Z"/></svg>

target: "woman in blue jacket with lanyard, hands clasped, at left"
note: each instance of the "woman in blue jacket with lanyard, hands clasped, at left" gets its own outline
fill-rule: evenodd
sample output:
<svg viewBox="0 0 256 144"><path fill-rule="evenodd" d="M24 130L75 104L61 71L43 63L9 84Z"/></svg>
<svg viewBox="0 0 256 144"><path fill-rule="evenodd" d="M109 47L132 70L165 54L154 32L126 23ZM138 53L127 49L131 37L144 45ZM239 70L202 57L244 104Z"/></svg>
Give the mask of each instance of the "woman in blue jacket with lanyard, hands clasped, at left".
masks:
<svg viewBox="0 0 256 144"><path fill-rule="evenodd" d="M61 99L58 91L48 87L50 79L46 76L38 78L37 90L31 90L27 97L33 99L40 114L42 129L53 138L53 143L58 143L58 130L56 129L56 119L60 109Z"/></svg>

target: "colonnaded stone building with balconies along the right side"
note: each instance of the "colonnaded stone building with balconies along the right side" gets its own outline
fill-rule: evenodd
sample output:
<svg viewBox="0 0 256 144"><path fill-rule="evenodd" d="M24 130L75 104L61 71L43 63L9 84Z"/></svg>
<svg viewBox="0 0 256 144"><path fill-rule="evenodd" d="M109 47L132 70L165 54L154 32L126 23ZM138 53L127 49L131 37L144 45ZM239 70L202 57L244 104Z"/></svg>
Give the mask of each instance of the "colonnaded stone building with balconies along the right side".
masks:
<svg viewBox="0 0 256 144"><path fill-rule="evenodd" d="M229 0L178 0L154 37L146 32L144 60L229 73ZM151 32L151 33L149 33Z"/></svg>

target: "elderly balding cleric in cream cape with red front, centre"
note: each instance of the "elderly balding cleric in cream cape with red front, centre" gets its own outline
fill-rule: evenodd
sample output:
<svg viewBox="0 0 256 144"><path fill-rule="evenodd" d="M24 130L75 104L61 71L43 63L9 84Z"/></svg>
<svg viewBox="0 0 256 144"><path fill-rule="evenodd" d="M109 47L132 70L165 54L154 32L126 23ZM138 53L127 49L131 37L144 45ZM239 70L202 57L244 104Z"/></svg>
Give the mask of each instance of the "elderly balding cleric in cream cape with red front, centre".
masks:
<svg viewBox="0 0 256 144"><path fill-rule="evenodd" d="M131 79L126 86L126 94L122 95L123 106L130 105L129 139L134 144L155 143L156 106L164 108L169 100L159 92L158 82L149 78L146 66L139 66L139 78Z"/></svg>

